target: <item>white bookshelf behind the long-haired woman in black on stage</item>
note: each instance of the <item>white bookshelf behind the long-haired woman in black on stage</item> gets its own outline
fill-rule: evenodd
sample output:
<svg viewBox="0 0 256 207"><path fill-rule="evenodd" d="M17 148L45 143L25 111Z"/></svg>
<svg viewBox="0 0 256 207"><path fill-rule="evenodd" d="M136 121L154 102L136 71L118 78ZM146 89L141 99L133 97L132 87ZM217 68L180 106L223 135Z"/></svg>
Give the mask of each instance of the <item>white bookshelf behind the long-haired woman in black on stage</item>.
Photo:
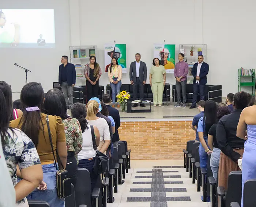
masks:
<svg viewBox="0 0 256 207"><path fill-rule="evenodd" d="M97 57L97 46L69 46L69 55L76 69L76 85L85 86L84 66L90 62L91 55Z"/></svg>

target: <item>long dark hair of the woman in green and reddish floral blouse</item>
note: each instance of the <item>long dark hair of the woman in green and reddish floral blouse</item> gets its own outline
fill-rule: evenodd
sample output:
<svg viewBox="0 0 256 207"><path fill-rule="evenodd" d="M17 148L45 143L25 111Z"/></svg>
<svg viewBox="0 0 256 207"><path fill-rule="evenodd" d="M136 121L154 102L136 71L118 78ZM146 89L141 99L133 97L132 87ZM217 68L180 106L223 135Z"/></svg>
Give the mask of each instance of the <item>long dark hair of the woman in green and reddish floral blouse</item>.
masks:
<svg viewBox="0 0 256 207"><path fill-rule="evenodd" d="M67 119L67 105L60 89L50 89L45 95L42 112Z"/></svg>

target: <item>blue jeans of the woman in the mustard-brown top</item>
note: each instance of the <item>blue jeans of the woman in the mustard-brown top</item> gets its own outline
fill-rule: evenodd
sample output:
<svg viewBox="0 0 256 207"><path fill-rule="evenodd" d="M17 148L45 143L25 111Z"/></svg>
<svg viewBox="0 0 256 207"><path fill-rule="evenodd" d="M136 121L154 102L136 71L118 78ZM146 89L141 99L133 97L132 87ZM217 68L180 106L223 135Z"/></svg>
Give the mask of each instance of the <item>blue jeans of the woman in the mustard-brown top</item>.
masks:
<svg viewBox="0 0 256 207"><path fill-rule="evenodd" d="M44 200L54 207L65 207L64 199L57 195L56 168L54 164L42 165L44 173L44 182L47 184L47 190L40 191L37 188L27 196L27 200Z"/></svg>

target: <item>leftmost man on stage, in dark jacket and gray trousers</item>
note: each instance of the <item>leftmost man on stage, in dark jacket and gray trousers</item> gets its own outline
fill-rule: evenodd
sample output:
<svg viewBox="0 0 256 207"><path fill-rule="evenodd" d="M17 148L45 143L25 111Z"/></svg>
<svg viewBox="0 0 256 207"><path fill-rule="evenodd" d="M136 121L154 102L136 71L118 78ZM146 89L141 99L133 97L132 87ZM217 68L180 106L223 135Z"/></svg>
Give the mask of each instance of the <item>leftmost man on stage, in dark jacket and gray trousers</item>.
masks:
<svg viewBox="0 0 256 207"><path fill-rule="evenodd" d="M59 66L59 86L64 94L67 108L73 104L73 87L76 84L76 69L68 62L68 56L62 56Z"/></svg>

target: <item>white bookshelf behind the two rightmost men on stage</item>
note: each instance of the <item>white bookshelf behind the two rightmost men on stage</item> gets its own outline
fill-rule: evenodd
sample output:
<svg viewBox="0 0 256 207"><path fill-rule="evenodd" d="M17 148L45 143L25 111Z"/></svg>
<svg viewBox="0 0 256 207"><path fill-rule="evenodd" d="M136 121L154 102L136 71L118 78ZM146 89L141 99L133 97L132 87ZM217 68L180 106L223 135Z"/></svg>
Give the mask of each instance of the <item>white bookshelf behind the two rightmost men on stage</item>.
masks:
<svg viewBox="0 0 256 207"><path fill-rule="evenodd" d="M191 48L193 50L191 51ZM179 53L183 53L185 55L184 61L188 63L188 75L187 77L191 79L189 82L193 83L193 75L192 69L196 62L198 62L198 55L204 56L204 62L207 62L207 53L206 53L206 44L180 44ZM178 58L177 58L178 59Z"/></svg>

